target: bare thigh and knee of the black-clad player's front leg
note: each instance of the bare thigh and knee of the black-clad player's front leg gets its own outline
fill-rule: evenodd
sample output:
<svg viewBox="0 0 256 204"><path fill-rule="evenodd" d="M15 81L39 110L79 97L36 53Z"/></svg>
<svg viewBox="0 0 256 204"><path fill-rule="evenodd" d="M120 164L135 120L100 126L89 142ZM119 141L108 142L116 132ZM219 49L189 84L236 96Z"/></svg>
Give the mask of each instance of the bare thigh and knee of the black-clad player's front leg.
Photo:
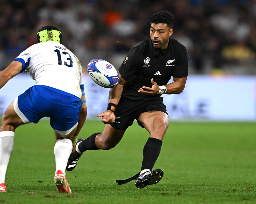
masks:
<svg viewBox="0 0 256 204"><path fill-rule="evenodd" d="M139 116L138 120L149 132L150 137L161 140L169 127L169 117L162 111L144 112Z"/></svg>

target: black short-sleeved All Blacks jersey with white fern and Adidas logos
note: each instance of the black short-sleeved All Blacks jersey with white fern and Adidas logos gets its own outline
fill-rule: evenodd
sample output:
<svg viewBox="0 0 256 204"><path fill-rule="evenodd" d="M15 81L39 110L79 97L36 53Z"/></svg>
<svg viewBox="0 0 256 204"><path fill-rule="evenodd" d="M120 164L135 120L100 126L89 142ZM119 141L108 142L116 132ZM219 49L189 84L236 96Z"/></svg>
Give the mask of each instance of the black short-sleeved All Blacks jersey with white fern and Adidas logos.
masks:
<svg viewBox="0 0 256 204"><path fill-rule="evenodd" d="M164 50L155 49L150 38L145 40L128 52L119 67L122 78L128 81L123 94L128 90L138 93L139 88L143 86L152 87L152 78L158 86L162 86L169 82L171 76L187 77L188 61L186 47L171 37L168 47ZM146 97L144 94L138 94Z"/></svg>

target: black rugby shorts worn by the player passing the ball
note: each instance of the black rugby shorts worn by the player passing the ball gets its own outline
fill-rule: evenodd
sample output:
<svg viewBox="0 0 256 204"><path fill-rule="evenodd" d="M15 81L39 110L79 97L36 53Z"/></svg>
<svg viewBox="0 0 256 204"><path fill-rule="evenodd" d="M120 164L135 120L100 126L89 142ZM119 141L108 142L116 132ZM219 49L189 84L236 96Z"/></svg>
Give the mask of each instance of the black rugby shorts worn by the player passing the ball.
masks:
<svg viewBox="0 0 256 204"><path fill-rule="evenodd" d="M168 115L166 106L163 104L163 97L156 96L134 101L122 96L115 109L115 121L110 125L118 130L126 130L136 119L138 124L144 128L138 118L141 113L148 111L161 111Z"/></svg>

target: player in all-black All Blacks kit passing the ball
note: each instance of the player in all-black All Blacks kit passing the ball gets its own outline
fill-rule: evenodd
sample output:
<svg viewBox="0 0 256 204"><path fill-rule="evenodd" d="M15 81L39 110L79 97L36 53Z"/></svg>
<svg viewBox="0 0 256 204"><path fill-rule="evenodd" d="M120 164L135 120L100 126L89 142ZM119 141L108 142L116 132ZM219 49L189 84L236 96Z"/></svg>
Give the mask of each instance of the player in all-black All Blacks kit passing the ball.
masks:
<svg viewBox="0 0 256 204"><path fill-rule="evenodd" d="M120 81L109 92L107 110L102 117L106 124L103 133L78 139L75 152L70 155L66 170L72 171L86 150L109 150L121 141L134 119L150 137L143 149L141 172L118 184L135 181L137 188L159 182L161 169L152 171L161 150L162 140L169 126L162 94L179 94L188 75L188 52L185 46L171 38L173 15L160 11L150 18L150 38L132 48L119 67ZM173 77L173 82L167 84Z"/></svg>

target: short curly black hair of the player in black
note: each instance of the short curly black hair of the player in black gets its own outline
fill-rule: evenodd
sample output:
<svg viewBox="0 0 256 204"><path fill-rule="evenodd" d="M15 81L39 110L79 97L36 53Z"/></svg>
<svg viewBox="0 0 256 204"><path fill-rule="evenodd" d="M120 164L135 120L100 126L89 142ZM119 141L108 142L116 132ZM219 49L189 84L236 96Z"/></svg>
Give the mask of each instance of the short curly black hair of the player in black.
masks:
<svg viewBox="0 0 256 204"><path fill-rule="evenodd" d="M169 28L173 28L173 18L169 11L159 11L150 17L150 24L166 23Z"/></svg>

